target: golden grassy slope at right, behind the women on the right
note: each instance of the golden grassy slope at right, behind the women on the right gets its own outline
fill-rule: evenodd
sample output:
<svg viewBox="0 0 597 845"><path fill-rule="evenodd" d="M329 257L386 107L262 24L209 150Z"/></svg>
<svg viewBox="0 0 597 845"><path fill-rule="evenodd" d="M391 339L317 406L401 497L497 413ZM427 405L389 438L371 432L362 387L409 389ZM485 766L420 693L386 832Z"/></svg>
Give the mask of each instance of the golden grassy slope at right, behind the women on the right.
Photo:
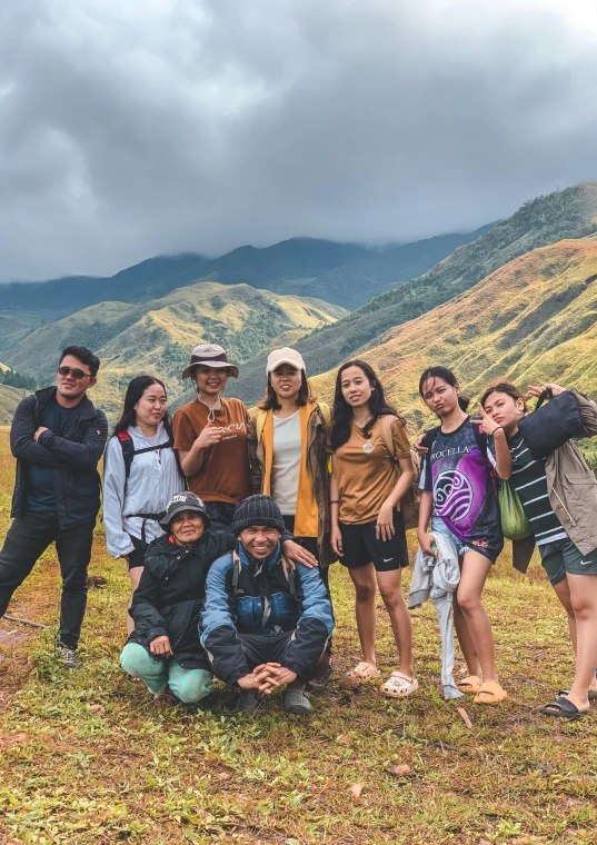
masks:
<svg viewBox="0 0 597 845"><path fill-rule="evenodd" d="M597 240L564 240L510 261L466 294L389 331L364 352L415 429L429 417L424 368L455 370L477 398L492 380L559 381L597 396ZM332 394L335 370L314 379Z"/></svg>

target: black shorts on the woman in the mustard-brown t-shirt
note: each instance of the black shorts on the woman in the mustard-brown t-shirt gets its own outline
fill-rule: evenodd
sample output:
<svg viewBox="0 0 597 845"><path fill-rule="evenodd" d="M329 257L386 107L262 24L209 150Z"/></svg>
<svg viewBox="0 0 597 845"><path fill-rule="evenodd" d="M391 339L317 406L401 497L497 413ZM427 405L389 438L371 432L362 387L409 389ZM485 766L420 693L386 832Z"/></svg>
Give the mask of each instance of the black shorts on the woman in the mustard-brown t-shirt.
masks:
<svg viewBox="0 0 597 845"><path fill-rule="evenodd" d="M347 569L372 563L378 573L389 573L408 566L405 523L399 510L394 511L394 536L389 540L376 538L376 523L340 523L340 530L345 553L340 563Z"/></svg>

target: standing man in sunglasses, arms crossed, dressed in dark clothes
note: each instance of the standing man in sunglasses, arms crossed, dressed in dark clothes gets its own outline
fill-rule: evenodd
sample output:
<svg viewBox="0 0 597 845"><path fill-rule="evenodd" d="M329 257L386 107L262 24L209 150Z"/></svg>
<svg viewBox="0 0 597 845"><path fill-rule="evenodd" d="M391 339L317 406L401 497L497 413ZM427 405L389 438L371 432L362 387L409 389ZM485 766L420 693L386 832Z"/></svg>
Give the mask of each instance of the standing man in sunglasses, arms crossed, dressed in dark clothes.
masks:
<svg viewBox="0 0 597 845"><path fill-rule="evenodd" d="M69 669L78 667L87 567L100 506L97 467L108 436L106 416L87 396L99 366L86 347L67 347L56 387L22 399L10 429L17 478L13 521L0 551L0 617L39 557L56 543L62 575L58 647Z"/></svg>

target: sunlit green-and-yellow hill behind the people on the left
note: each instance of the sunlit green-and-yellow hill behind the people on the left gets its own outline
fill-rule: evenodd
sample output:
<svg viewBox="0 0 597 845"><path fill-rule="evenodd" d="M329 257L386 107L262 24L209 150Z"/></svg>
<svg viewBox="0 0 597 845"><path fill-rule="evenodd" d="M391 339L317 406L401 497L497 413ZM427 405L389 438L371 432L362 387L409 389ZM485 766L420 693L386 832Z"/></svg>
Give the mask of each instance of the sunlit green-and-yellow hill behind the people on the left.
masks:
<svg viewBox="0 0 597 845"><path fill-rule="evenodd" d="M278 296L248 285L200 282L142 305L102 302L38 328L10 352L8 364L49 384L60 349L83 344L100 357L94 400L113 415L129 379L160 375L172 400L183 389L180 372L200 342L221 342L236 361L271 344L296 342L346 310L318 299Z"/></svg>

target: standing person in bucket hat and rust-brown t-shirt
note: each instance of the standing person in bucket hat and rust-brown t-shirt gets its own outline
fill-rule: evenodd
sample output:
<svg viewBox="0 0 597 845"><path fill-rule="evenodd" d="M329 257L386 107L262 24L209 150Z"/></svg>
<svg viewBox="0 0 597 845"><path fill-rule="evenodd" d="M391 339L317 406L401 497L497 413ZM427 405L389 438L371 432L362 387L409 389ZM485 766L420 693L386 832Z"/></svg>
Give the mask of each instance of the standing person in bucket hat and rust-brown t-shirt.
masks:
<svg viewBox="0 0 597 845"><path fill-rule="evenodd" d="M236 505L250 494L247 459L247 408L222 397L238 367L218 344L196 346L182 378L195 382L197 396L175 415L175 449L189 488L206 503L216 530L228 530Z"/></svg>

